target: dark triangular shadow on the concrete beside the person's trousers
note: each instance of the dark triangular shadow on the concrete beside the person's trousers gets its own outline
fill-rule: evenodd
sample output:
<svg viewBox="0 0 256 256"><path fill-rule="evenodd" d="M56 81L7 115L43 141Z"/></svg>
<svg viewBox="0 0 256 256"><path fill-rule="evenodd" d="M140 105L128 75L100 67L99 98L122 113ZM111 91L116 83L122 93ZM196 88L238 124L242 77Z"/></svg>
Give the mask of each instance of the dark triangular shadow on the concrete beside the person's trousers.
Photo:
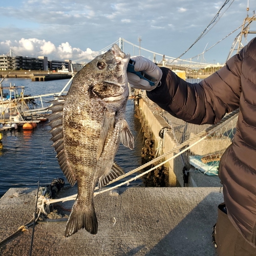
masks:
<svg viewBox="0 0 256 256"><path fill-rule="evenodd" d="M218 193L210 193L145 255L215 256L211 241L212 226L217 221ZM220 200L222 200L220 198ZM126 255L126 254L125 254Z"/></svg>

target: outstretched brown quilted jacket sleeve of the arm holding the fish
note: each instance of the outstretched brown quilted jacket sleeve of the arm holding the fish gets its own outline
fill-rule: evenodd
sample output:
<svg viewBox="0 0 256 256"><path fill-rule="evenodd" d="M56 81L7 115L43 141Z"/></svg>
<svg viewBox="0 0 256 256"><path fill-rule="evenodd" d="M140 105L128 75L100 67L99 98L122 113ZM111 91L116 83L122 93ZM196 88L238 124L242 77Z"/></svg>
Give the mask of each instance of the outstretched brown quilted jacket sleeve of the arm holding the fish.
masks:
<svg viewBox="0 0 256 256"><path fill-rule="evenodd" d="M241 70L247 46L199 83L189 83L162 67L161 86L147 97L173 116L195 124L215 124L239 108Z"/></svg>

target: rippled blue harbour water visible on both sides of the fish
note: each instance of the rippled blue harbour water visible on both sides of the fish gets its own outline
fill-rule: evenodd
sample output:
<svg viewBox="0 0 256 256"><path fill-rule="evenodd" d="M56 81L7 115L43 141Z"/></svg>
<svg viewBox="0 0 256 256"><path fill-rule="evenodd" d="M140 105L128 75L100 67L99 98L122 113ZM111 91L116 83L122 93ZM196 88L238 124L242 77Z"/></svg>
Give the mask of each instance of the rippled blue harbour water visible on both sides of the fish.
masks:
<svg viewBox="0 0 256 256"><path fill-rule="evenodd" d="M60 92L68 81L69 79L32 82L29 78L7 78L2 82L2 86L10 86L10 83L12 86L15 84L16 87L25 86L25 95L33 96ZM45 99L45 101L51 99ZM120 144L115 160L124 169L124 172L129 172L141 165L141 148L143 146L141 125L139 120L134 117L133 100L127 102L126 121L134 135L135 148L131 151ZM31 131L25 131L22 127L18 127L18 130L15 131L1 132L3 138L0 141L0 197L10 187L37 187L39 179L41 186L51 183L54 178L63 178L68 184L59 168L54 148L51 146L50 129L48 121L46 121L39 122L37 127ZM126 179L129 178L131 177ZM123 181L120 180L119 183ZM137 180L130 185L140 184L142 181Z"/></svg>

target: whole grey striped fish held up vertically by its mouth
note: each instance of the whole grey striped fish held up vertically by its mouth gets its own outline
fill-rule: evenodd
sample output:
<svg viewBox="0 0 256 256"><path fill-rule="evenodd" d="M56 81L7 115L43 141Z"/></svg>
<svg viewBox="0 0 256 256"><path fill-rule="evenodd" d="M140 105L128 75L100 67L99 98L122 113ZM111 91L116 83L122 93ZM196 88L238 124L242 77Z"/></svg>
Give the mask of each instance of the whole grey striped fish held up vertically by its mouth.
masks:
<svg viewBox="0 0 256 256"><path fill-rule="evenodd" d="M52 101L48 119L53 147L63 174L71 186L77 182L78 190L65 237L81 228L97 233L95 187L124 174L114 160L120 142L134 148L125 120L129 60L129 53L113 45L77 72L67 95Z"/></svg>

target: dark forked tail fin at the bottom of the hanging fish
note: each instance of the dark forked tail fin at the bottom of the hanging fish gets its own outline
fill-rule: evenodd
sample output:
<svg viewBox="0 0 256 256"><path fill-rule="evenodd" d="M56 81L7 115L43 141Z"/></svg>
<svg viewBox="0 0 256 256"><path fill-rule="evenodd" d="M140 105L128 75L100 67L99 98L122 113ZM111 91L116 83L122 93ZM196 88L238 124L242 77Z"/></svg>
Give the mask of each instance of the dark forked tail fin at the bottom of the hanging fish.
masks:
<svg viewBox="0 0 256 256"><path fill-rule="evenodd" d="M90 208L84 208L84 205L80 205L76 200L66 225L65 237L70 237L81 228L85 228L91 234L96 234L98 221L93 205Z"/></svg>

